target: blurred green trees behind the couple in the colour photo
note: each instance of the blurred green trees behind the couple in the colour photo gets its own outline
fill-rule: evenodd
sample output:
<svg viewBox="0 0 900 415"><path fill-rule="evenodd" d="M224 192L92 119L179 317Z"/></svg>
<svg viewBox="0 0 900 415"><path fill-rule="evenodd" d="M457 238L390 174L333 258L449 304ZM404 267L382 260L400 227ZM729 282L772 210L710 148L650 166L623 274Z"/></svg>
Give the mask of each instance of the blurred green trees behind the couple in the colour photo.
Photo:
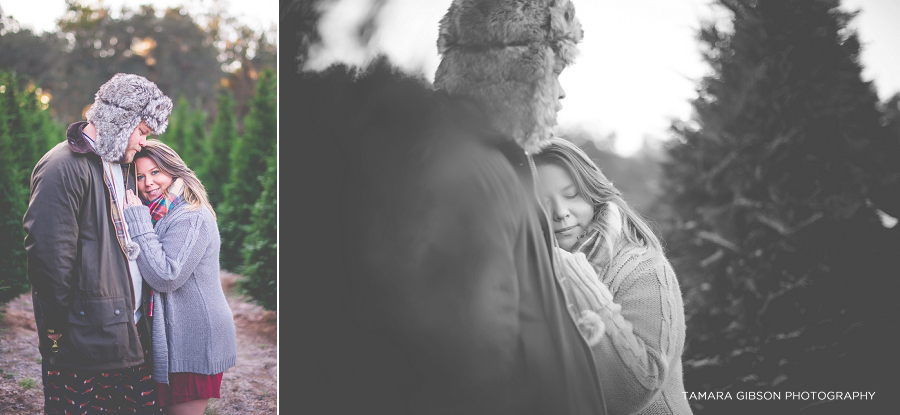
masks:
<svg viewBox="0 0 900 415"><path fill-rule="evenodd" d="M66 125L84 119L100 85L127 72L175 101L157 138L207 187L223 229L223 269L242 274L238 287L274 310L275 28L256 30L221 10L192 16L148 4L113 17L103 6L66 4L58 30L40 35L0 9L0 303L29 287L21 222L34 165L64 139ZM229 212L240 212L241 222ZM249 234L252 248L243 245Z"/></svg>

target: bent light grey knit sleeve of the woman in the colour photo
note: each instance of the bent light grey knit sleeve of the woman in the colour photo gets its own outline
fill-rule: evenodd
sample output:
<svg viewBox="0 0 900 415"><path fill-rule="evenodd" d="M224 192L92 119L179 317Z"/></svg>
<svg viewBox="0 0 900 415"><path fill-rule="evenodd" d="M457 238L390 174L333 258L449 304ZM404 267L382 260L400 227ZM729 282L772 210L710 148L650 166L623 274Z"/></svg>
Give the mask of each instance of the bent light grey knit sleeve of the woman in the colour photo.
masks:
<svg viewBox="0 0 900 415"><path fill-rule="evenodd" d="M209 244L208 225L200 212L174 218L163 235L157 235L146 206L125 208L131 239L141 247L136 261L141 275L158 292L171 292L187 282Z"/></svg>

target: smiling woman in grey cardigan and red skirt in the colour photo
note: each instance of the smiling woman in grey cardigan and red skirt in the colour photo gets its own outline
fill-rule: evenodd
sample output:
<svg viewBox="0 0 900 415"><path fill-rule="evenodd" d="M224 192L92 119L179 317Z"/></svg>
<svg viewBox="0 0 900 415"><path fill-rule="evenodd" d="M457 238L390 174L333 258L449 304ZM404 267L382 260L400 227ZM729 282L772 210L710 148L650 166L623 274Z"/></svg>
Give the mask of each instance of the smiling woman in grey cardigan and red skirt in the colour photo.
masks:
<svg viewBox="0 0 900 415"><path fill-rule="evenodd" d="M140 198L127 191L125 221L152 289L152 376L170 415L200 415L234 366L234 320L219 280L219 230L203 184L158 140L135 155Z"/></svg>

